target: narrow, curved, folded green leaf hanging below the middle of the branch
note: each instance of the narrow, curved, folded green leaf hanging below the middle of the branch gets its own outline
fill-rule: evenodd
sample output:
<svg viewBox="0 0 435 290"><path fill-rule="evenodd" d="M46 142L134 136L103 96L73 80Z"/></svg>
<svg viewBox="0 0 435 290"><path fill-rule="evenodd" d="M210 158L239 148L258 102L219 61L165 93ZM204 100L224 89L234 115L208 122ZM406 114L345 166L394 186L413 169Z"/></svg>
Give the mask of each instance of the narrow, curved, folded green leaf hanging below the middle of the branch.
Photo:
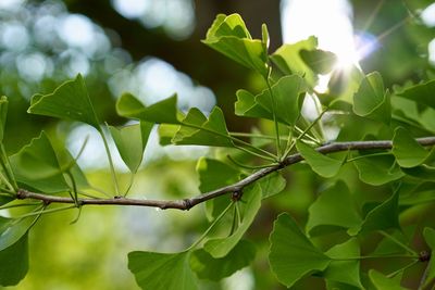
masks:
<svg viewBox="0 0 435 290"><path fill-rule="evenodd" d="M215 259L227 255L252 224L261 206L260 187L254 186L251 190L244 192L243 200L248 200L246 204L240 204L243 220L233 235L226 238L210 239L204 243L204 250Z"/></svg>

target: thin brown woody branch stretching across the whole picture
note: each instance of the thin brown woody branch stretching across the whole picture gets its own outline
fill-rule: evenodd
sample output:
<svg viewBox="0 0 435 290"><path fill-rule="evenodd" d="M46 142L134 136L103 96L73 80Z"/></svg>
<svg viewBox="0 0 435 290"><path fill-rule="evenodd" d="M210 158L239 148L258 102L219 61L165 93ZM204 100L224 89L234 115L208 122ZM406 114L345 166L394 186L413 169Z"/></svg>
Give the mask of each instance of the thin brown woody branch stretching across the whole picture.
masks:
<svg viewBox="0 0 435 290"><path fill-rule="evenodd" d="M417 141L422 146L434 146L435 144L435 137L425 137L419 138ZM393 142L390 140L382 140L382 141L350 141L350 142L335 142L325 144L322 147L316 148L316 151L327 154L334 152L341 152L348 150L373 150L373 149L391 149ZM79 205L86 204L94 204L94 205L137 205L137 206L149 206L149 207L160 207L162 210L166 209L176 209L176 210L190 210L197 204L206 202L208 200L212 200L214 198L240 192L243 189L254 181L259 180L260 178L273 173L277 172L284 167L287 167L291 164L298 163L302 161L303 157L301 154L296 153L289 155L285 159L281 164L274 165L268 168L260 169L248 177L235 182L234 185L222 187L200 196L184 199L184 200L139 200L139 199L128 199L122 197L115 197L113 199L78 199ZM47 204L50 203L76 203L72 198L64 198L64 197L54 197L54 196L47 196L42 193L30 192L25 189L20 189L16 193L17 199L33 199L33 200L40 200Z"/></svg>

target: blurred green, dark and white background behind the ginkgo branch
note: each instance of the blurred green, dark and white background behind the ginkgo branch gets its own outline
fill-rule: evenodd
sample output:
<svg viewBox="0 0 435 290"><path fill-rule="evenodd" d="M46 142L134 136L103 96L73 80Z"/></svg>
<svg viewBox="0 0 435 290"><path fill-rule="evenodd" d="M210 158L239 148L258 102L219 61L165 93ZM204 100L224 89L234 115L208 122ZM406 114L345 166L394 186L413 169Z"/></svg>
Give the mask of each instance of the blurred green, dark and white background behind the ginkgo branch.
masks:
<svg viewBox="0 0 435 290"><path fill-rule="evenodd" d="M295 41L291 34L300 33L304 38L316 31L322 34L315 27L336 34L336 27L328 25L336 18L333 13L340 11L339 15L353 25L349 27L351 37L357 36L356 42L370 40L364 47L365 58L360 60L365 73L380 71L388 87L408 79L434 78L433 1L310 0L304 1L308 9L295 12L300 9L298 2L302 1L1 0L0 94L10 100L8 152L16 152L41 129L73 154L88 136L79 164L92 185L111 190L105 182L109 173L101 141L91 128L26 113L34 93L51 92L77 73L86 77L100 119L111 125L125 123L114 111L114 103L124 91L135 93L145 103L178 92L182 110L198 106L207 113L219 104L233 131L249 131L253 125L270 129L269 124L234 116L235 91L239 88L259 91L264 86L261 78L200 42L217 13L239 13L257 38L261 35L261 24L266 23L273 52L283 42ZM337 9L327 11L325 5ZM299 14L298 18L293 11ZM314 28L303 30L303 27ZM322 41L320 37L321 47ZM347 46L345 36L333 42ZM324 49L330 47L325 45ZM219 156L222 152L192 147L161 148L156 131L152 136L132 197L198 194L195 159L207 154ZM120 179L126 186L129 177L124 175L125 166L119 157L116 164ZM285 192L266 201L249 231L259 250L252 268L222 282L204 281L201 289L283 289L270 274L266 261L266 237L272 220L282 211L304 220L308 205L325 186L308 166L296 166L298 171L285 173L289 180ZM368 192L374 200L380 199L382 188L356 188L353 167L345 166L343 171L349 177L348 186L364 192L359 193L365 194L364 199ZM8 289L138 289L126 267L127 252L182 250L207 226L201 206L188 213L85 206L78 222L70 225L76 215L75 211L47 215L38 223L30 235L29 274L18 286ZM322 287L315 278L308 282L310 289Z"/></svg>

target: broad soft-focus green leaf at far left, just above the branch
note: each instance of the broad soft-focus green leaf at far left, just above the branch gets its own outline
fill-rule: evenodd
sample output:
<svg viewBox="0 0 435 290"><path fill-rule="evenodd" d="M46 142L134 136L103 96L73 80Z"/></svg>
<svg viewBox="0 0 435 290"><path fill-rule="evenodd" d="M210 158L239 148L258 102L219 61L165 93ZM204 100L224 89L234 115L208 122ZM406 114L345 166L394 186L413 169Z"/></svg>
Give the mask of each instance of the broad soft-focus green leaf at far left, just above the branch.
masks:
<svg viewBox="0 0 435 290"><path fill-rule="evenodd" d="M70 189L51 142L44 131L12 155L10 161L18 182L46 193Z"/></svg>

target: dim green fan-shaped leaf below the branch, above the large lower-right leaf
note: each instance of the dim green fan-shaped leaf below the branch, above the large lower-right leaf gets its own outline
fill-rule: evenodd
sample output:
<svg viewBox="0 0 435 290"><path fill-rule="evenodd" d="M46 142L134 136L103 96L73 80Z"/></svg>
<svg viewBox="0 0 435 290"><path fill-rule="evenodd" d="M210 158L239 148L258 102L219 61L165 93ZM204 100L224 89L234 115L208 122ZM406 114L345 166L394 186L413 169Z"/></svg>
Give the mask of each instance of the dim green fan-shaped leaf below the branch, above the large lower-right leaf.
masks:
<svg viewBox="0 0 435 290"><path fill-rule="evenodd" d="M348 187L340 180L321 192L308 213L307 231L310 235L324 231L325 228L334 231L336 228L358 227L362 222Z"/></svg>

